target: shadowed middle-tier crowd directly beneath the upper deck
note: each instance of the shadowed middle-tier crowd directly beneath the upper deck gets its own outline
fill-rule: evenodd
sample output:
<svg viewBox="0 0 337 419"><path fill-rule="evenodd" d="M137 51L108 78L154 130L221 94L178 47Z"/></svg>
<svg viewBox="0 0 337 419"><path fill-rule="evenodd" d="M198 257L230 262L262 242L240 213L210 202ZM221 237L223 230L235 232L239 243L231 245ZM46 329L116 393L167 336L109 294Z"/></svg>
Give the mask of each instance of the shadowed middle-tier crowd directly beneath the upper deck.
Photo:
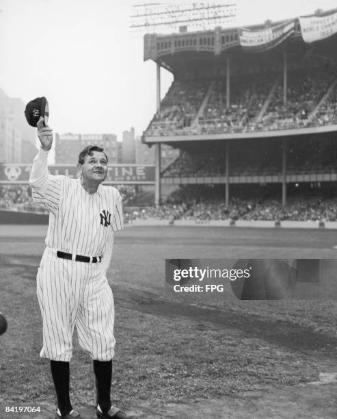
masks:
<svg viewBox="0 0 337 419"><path fill-rule="evenodd" d="M226 144L182 149L163 177L226 176ZM208 144L207 144L208 146ZM282 175L282 142L241 140L230 144L229 175ZM304 138L288 141L286 173L288 175L337 172L337 141Z"/></svg>

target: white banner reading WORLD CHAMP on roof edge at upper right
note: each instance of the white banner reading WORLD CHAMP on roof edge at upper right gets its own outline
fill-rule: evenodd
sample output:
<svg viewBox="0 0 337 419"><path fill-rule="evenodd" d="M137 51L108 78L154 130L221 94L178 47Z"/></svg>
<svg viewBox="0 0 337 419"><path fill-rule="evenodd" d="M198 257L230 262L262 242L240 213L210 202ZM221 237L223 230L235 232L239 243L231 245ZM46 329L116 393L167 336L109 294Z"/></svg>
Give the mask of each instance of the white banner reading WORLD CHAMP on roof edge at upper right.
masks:
<svg viewBox="0 0 337 419"><path fill-rule="evenodd" d="M337 12L327 16L300 17L299 23L304 42L310 44L337 33Z"/></svg>

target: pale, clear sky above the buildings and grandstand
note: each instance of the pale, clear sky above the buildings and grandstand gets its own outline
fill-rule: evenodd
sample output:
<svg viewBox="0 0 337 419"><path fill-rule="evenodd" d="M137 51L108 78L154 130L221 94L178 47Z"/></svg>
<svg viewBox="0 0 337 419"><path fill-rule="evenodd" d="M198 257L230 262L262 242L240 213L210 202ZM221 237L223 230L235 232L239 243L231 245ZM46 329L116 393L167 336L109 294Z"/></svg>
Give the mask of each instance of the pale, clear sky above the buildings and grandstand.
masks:
<svg viewBox="0 0 337 419"><path fill-rule="evenodd" d="M0 88L25 103L45 96L55 132L113 133L120 139L135 127L141 135L156 110L157 69L144 62L143 38L131 31L129 16L134 4L146 2L0 0ZM231 26L336 8L336 0L236 3ZM162 69L162 97L172 79Z"/></svg>

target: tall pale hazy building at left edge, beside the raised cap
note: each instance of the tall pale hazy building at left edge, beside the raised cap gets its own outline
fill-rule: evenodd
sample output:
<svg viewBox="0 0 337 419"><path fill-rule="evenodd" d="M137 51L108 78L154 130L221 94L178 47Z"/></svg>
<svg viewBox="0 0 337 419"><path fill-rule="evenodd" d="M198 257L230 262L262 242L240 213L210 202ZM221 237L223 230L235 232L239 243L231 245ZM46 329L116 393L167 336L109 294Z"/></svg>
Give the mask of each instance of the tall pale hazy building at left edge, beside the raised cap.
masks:
<svg viewBox="0 0 337 419"><path fill-rule="evenodd" d="M6 162L31 162L34 155L38 152L38 149L36 149L36 129L27 124L23 100L9 97L8 94L0 89L0 118L1 125L3 125L1 128L1 144L4 146L9 141L14 141L12 147L15 149L15 157L11 154L11 151L8 151L7 157L5 157ZM6 119L8 123L5 123ZM9 137L4 138L4 135ZM2 161L3 156L0 158Z"/></svg>

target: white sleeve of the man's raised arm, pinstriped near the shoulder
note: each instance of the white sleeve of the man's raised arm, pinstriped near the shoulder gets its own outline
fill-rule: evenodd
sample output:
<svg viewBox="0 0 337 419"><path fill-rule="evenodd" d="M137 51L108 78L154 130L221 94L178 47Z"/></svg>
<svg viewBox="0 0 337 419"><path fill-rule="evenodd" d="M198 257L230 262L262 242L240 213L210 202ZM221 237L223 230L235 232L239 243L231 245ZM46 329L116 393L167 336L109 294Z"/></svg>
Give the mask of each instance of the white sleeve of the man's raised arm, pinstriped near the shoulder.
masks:
<svg viewBox="0 0 337 419"><path fill-rule="evenodd" d="M61 201L62 177L49 175L47 158L48 151L40 149L33 160L29 184L33 201L55 213Z"/></svg>

